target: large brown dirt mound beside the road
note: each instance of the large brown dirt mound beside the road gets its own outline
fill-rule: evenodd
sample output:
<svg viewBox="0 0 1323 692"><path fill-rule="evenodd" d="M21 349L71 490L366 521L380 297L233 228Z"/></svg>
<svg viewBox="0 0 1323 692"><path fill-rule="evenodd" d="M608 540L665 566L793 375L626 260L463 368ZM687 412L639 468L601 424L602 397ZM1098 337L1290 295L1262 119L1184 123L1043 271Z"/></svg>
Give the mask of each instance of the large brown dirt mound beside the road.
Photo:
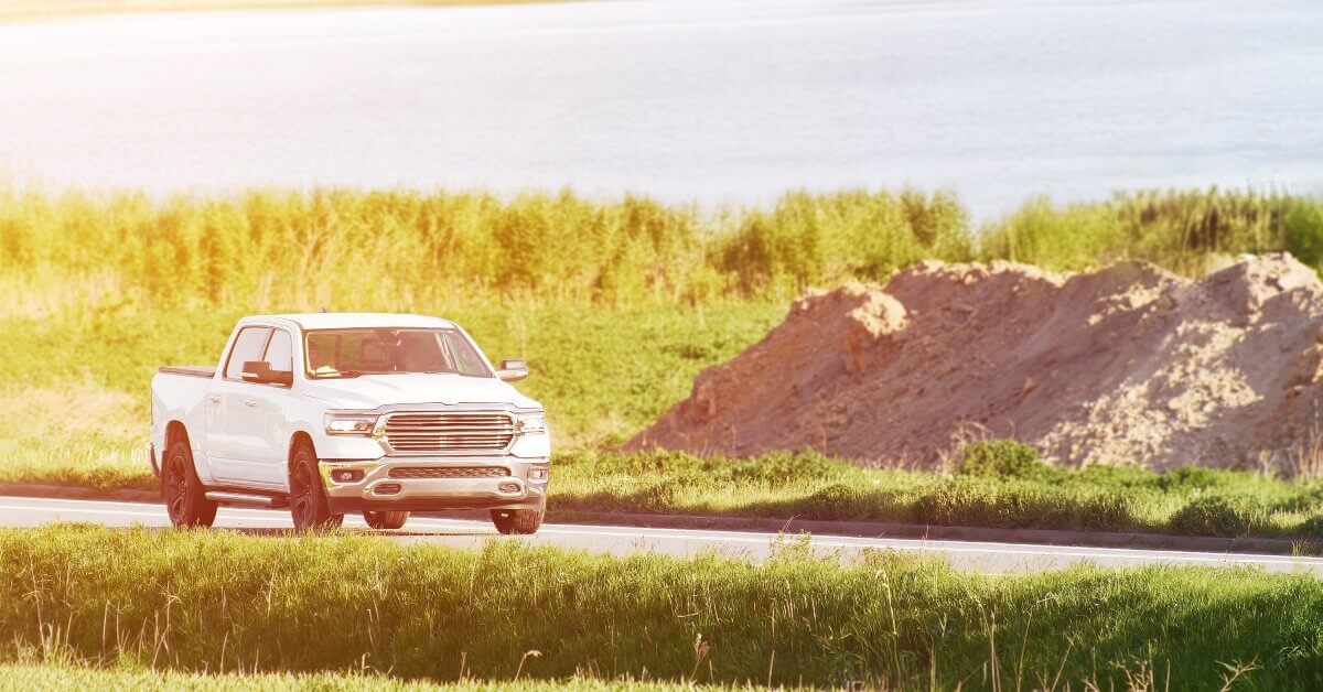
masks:
<svg viewBox="0 0 1323 692"><path fill-rule="evenodd" d="M1203 281L926 263L799 299L630 442L935 466L962 435L1058 463L1282 467L1315 439L1323 284L1285 254Z"/></svg>

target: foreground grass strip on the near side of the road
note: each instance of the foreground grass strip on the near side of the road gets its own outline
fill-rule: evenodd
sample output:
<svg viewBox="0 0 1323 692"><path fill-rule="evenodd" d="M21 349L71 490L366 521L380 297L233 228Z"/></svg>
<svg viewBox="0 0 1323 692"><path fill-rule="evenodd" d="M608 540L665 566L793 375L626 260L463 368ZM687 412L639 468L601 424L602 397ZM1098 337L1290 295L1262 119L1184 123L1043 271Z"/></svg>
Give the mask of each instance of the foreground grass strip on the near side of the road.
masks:
<svg viewBox="0 0 1323 692"><path fill-rule="evenodd" d="M1252 570L987 577L803 544L747 564L366 536L0 531L0 656L435 681L873 688L1323 684L1323 582ZM529 654L536 651L537 654Z"/></svg>

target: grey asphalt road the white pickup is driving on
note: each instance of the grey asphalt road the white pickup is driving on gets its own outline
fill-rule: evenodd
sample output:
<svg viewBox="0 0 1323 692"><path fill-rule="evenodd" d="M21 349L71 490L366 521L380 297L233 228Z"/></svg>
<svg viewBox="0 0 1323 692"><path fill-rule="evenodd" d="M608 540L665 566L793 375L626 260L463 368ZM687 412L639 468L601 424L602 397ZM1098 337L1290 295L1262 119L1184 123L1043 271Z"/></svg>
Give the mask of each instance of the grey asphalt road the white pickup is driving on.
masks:
<svg viewBox="0 0 1323 692"><path fill-rule="evenodd" d="M169 525L165 508L160 504L0 496L0 527L38 527L53 521L85 521L106 527ZM258 533L292 528L286 511L237 508L222 508L217 515L216 527ZM351 531L372 532L357 516L347 517L345 527ZM546 524L536 536L503 537L487 521L431 517L413 517L401 532L373 533L406 544L426 542L460 548L475 548L492 540L524 540L610 554L651 550L687 556L714 550L747 560L766 558L777 541L773 533L582 524ZM839 553L843 558L857 556L867 549L894 549L945 556L958 568L988 573L1036 572L1091 562L1099 566L1154 564L1253 566L1266 572L1323 576L1323 558L1316 557L836 536L814 536L811 541L819 552Z"/></svg>

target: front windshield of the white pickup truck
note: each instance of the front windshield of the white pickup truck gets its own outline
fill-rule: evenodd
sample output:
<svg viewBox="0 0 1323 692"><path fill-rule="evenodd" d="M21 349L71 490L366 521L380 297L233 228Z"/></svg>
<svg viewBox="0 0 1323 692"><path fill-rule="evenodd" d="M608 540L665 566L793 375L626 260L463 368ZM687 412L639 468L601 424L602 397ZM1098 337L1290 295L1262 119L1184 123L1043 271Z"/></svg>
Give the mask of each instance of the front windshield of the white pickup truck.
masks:
<svg viewBox="0 0 1323 692"><path fill-rule="evenodd" d="M491 377L459 329L327 329L304 337L308 377L447 373Z"/></svg>

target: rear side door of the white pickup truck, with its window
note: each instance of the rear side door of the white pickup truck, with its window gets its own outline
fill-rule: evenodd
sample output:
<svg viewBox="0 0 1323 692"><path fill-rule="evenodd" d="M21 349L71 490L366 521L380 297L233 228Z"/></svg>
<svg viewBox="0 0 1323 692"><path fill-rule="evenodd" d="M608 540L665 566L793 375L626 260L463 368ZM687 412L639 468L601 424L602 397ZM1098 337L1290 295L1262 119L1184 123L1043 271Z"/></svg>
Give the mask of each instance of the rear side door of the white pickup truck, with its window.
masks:
<svg viewBox="0 0 1323 692"><path fill-rule="evenodd" d="M206 463L217 480L265 486L254 478L263 447L257 392L265 385L245 382L243 364L262 360L270 339L270 327L245 327L234 337L221 372L212 380L206 398Z"/></svg>

